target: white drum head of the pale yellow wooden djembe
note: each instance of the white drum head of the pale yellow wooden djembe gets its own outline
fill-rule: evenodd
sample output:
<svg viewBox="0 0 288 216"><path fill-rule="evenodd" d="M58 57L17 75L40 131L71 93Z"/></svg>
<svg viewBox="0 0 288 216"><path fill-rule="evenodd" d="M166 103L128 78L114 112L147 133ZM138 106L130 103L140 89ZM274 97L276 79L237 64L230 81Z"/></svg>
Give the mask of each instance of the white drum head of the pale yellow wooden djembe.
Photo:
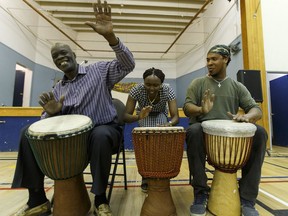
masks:
<svg viewBox="0 0 288 216"><path fill-rule="evenodd" d="M209 120L201 124L204 133L224 137L253 137L256 126L234 120Z"/></svg>

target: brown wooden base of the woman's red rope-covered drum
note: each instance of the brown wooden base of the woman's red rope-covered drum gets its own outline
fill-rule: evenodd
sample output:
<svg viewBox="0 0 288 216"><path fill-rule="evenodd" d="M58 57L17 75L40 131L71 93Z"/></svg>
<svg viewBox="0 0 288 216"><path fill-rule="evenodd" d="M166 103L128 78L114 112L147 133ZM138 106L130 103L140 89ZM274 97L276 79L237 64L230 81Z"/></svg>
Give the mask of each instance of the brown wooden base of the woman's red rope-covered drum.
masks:
<svg viewBox="0 0 288 216"><path fill-rule="evenodd" d="M147 193L141 216L177 215L170 191L170 179L148 179Z"/></svg>

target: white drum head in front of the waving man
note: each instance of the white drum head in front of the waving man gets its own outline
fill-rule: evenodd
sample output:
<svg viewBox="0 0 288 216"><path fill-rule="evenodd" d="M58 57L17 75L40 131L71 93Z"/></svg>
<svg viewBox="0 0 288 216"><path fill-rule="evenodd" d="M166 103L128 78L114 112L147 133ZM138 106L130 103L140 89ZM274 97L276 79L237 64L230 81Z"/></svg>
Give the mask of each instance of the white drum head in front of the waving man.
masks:
<svg viewBox="0 0 288 216"><path fill-rule="evenodd" d="M41 138L42 136L73 136L90 130L92 121L85 115L62 115L39 120L28 128L28 135Z"/></svg>

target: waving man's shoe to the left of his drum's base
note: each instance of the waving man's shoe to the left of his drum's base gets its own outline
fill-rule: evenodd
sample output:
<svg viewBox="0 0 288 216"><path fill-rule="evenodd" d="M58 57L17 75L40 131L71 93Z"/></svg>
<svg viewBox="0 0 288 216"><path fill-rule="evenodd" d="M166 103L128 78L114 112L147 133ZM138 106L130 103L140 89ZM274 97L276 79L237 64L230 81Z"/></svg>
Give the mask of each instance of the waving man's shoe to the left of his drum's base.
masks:
<svg viewBox="0 0 288 216"><path fill-rule="evenodd" d="M51 203L49 200L39 206L30 208L27 204L20 208L13 216L48 216L51 214Z"/></svg>

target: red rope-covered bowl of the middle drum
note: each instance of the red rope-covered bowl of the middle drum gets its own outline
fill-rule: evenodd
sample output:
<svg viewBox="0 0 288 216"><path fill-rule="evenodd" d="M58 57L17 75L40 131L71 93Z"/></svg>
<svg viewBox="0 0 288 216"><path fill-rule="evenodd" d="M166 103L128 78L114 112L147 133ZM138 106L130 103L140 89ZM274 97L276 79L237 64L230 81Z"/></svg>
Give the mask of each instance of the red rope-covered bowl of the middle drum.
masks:
<svg viewBox="0 0 288 216"><path fill-rule="evenodd" d="M132 138L140 175L145 178L174 178L179 174L185 131L151 133L145 130L142 133L134 132Z"/></svg>

